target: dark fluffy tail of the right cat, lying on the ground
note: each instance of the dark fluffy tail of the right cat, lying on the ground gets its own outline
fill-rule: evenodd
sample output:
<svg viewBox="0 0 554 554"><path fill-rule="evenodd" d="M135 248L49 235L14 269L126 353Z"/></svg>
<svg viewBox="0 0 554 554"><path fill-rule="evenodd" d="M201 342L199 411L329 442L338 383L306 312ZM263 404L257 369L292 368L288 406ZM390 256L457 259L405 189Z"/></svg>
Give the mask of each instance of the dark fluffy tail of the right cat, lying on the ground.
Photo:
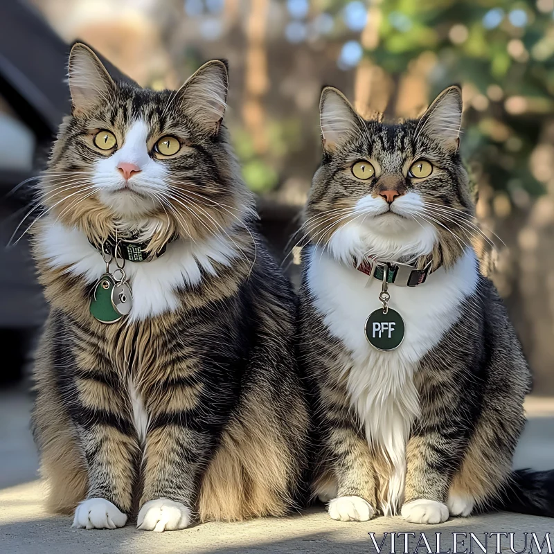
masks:
<svg viewBox="0 0 554 554"><path fill-rule="evenodd" d="M512 472L499 496L485 506L490 510L554 517L554 470Z"/></svg>

